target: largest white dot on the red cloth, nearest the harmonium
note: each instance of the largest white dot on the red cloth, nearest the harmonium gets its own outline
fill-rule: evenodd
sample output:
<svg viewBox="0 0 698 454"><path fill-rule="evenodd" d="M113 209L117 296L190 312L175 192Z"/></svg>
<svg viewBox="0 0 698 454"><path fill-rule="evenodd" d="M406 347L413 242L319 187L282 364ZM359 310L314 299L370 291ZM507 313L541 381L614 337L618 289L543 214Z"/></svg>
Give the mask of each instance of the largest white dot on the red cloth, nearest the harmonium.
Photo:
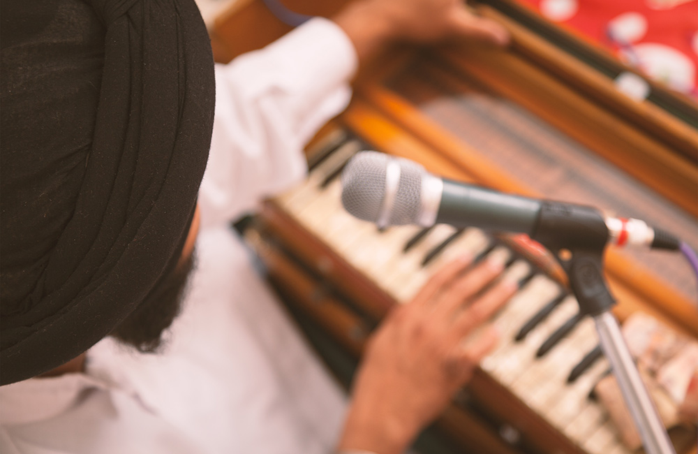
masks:
<svg viewBox="0 0 698 454"><path fill-rule="evenodd" d="M637 57L639 66L648 77L658 80L677 91L688 93L695 84L696 68L682 52L658 43L641 43L632 46L632 55L622 50L623 57Z"/></svg>

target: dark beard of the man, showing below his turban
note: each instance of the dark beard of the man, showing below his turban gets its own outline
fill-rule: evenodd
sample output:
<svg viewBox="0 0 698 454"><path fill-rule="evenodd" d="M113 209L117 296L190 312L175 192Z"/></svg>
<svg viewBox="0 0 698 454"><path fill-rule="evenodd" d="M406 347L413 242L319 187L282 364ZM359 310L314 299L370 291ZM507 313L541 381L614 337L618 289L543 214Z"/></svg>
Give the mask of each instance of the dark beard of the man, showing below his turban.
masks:
<svg viewBox="0 0 698 454"><path fill-rule="evenodd" d="M163 333L181 310L188 277L195 266L194 253L189 254L186 261L156 284L110 336L134 346L142 353L156 353L163 344Z"/></svg>

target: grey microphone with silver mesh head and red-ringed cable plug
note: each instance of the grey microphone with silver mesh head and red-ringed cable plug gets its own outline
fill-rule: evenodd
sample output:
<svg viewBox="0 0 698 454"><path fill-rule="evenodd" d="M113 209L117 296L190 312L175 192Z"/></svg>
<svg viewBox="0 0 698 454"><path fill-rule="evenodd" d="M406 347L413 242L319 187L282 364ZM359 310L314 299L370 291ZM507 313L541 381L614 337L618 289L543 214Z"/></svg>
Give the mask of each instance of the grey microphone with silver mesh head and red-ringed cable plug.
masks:
<svg viewBox="0 0 698 454"><path fill-rule="evenodd" d="M584 246L586 230L591 229L607 244L616 246L675 250L681 245L673 235L639 219L604 217L593 207L514 196L444 180L414 161L379 152L353 156L342 171L341 184L344 209L379 228L451 224L526 233L534 240L551 240L547 243L560 247ZM560 240L560 235L567 238ZM560 244L565 241L577 244Z"/></svg>

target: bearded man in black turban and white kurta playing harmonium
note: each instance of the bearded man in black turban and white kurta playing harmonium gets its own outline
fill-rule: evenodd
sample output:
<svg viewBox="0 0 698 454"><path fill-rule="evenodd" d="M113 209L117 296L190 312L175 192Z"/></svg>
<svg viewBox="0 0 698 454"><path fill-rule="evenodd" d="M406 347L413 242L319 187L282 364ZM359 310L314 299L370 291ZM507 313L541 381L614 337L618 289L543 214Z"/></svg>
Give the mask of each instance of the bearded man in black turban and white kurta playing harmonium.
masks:
<svg viewBox="0 0 698 454"><path fill-rule="evenodd" d="M217 66L213 115L191 3L1 13L1 451L407 448L495 342L461 345L514 291L480 294L502 264L463 257L390 314L345 414L228 222L304 175L381 47L505 31L458 1L360 0Z"/></svg>

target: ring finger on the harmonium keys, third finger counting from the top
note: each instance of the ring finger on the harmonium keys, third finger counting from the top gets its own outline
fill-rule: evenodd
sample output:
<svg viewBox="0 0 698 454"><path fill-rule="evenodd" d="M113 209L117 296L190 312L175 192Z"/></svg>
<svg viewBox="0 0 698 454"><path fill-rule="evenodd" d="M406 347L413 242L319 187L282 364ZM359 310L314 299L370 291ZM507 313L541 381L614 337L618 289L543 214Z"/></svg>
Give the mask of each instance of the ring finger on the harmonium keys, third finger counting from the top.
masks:
<svg viewBox="0 0 698 454"><path fill-rule="evenodd" d="M519 290L519 285L512 279L501 279L491 288L488 288L470 307L464 309L452 325L452 333L457 338L468 335L477 326L489 320L501 309Z"/></svg>

